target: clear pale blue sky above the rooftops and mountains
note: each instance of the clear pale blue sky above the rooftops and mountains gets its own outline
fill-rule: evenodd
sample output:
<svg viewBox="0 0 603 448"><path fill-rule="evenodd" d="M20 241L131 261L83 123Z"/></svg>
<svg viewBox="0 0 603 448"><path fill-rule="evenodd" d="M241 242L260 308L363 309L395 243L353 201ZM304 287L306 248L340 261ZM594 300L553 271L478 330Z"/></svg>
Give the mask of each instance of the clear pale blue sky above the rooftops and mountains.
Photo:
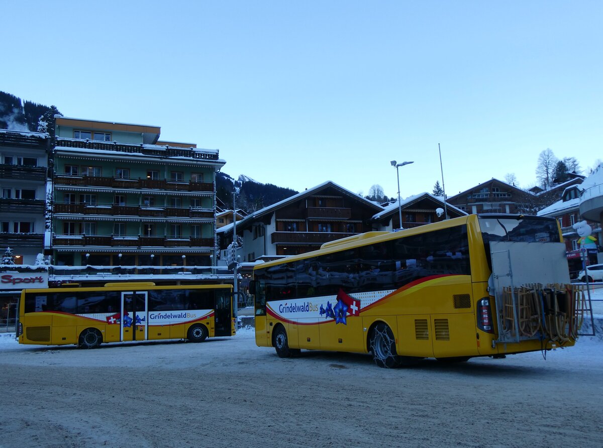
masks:
<svg viewBox="0 0 603 448"><path fill-rule="evenodd" d="M8 1L0 90L301 191L453 195L601 151L601 1Z"/></svg>

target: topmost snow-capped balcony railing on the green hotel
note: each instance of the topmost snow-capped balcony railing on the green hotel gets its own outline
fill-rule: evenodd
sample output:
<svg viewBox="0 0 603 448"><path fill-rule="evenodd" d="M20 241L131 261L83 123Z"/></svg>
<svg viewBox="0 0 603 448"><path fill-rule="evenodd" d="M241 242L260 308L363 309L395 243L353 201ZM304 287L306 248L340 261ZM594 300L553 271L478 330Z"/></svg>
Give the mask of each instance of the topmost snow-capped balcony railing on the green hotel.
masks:
<svg viewBox="0 0 603 448"><path fill-rule="evenodd" d="M120 153L138 153L154 157L191 157L192 159L218 160L218 151L199 150L160 145L127 144L118 142L100 142L96 140L68 139L57 137L57 148L82 148L86 150L119 151Z"/></svg>

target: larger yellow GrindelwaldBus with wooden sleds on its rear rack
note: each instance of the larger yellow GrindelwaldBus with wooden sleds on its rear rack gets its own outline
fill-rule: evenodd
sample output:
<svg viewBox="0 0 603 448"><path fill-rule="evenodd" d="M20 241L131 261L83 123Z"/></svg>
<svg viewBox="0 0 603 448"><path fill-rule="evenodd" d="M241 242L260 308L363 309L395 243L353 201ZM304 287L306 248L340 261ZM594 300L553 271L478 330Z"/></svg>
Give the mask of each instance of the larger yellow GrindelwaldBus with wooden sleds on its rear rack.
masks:
<svg viewBox="0 0 603 448"><path fill-rule="evenodd" d="M552 218L469 215L261 263L256 344L372 353L380 367L573 345L580 295L562 241Z"/></svg>

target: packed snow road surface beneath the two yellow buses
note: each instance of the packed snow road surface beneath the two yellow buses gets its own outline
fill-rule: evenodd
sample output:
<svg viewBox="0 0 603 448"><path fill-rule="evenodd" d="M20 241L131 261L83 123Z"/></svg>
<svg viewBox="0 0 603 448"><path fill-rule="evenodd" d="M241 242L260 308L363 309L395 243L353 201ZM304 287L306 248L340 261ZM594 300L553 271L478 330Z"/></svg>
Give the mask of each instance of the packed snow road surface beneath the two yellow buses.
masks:
<svg viewBox="0 0 603 448"><path fill-rule="evenodd" d="M280 359L252 332L96 350L0 344L0 447L601 446L603 353L399 370Z"/></svg>

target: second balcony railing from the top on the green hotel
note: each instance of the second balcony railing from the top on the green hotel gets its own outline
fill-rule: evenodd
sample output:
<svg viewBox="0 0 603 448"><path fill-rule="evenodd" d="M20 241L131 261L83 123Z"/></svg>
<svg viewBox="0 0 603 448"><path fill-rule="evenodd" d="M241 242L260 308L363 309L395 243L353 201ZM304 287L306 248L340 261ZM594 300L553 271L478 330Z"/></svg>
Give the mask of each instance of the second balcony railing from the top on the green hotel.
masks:
<svg viewBox="0 0 603 448"><path fill-rule="evenodd" d="M80 185L120 189L156 189L168 191L213 192L212 182L177 182L171 179L116 178L113 176L75 176L55 174L55 185Z"/></svg>

